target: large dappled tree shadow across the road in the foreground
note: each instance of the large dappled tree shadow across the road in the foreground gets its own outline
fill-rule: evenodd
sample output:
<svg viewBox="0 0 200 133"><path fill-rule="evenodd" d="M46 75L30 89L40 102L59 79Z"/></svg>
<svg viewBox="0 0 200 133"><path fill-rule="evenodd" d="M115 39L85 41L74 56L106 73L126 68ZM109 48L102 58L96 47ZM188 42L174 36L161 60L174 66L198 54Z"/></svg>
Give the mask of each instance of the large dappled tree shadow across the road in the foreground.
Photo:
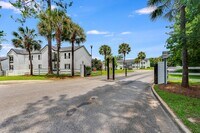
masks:
<svg viewBox="0 0 200 133"><path fill-rule="evenodd" d="M160 132L155 116L162 120L163 114L158 106L149 104L152 99L149 84L141 81L105 85L73 98L67 94L58 98L45 96L0 123L0 131Z"/></svg>

